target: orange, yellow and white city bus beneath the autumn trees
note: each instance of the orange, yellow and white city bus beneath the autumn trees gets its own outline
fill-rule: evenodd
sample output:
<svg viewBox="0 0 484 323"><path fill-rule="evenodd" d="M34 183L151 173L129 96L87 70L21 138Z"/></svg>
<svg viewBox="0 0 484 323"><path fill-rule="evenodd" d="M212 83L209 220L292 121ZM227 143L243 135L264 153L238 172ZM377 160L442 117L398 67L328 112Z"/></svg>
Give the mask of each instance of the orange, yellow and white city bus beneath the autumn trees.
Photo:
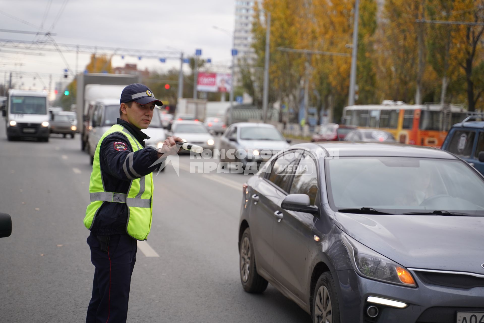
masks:
<svg viewBox="0 0 484 323"><path fill-rule="evenodd" d="M447 131L453 124L464 120L466 113L458 105L409 105L384 101L381 105L346 107L342 119L343 124L388 131L400 143L440 148Z"/></svg>

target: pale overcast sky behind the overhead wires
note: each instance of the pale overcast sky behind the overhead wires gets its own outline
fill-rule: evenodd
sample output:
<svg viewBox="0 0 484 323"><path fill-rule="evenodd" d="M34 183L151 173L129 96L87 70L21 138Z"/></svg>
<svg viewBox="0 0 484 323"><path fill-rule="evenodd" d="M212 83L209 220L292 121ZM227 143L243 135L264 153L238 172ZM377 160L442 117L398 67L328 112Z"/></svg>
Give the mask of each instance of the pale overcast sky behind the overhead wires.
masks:
<svg viewBox="0 0 484 323"><path fill-rule="evenodd" d="M66 2L59 19L52 27L62 4ZM46 8L50 8L46 13ZM46 15L45 15L46 13ZM57 33L53 38L61 44L139 48L151 50L180 49L193 55L202 49L202 58L211 58L214 71L224 71L221 65L230 63L231 36L213 28L217 26L232 32L235 22L235 0L0 0L0 29L39 31L15 20ZM45 19L43 19L45 16ZM43 36L0 31L1 39L43 40ZM40 55L11 53L0 42L0 83L6 71L52 73L53 83L59 81L66 64L56 52ZM31 50L33 54L41 52ZM71 69L76 68L76 54L64 53ZM78 69L89 62L89 54L79 54ZM121 56L113 57L114 66L137 63L138 67L163 71L179 67L179 61L163 64L155 59ZM19 65L19 64L22 65ZM8 77L8 73L7 73ZM25 86L32 86L32 77L23 77ZM48 87L48 77L36 80L36 88Z"/></svg>

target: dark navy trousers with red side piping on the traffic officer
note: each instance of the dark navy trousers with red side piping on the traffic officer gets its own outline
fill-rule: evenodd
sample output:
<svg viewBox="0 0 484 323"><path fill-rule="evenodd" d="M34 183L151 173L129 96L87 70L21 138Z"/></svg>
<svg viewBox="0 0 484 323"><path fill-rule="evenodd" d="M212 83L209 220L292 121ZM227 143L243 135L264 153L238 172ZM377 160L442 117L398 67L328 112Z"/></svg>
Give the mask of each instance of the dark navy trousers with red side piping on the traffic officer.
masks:
<svg viewBox="0 0 484 323"><path fill-rule="evenodd" d="M101 242L92 233L87 243L91 248L91 262L96 268L86 323L124 323L136 262L136 239L127 234L111 235L107 252L102 251Z"/></svg>

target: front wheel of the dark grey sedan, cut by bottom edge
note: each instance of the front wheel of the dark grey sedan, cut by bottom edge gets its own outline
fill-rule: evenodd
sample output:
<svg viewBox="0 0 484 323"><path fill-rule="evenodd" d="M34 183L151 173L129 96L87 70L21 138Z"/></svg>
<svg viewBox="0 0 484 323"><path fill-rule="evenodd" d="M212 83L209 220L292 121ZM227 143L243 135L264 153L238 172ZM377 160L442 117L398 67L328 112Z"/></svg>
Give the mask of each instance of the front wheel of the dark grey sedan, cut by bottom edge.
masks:
<svg viewBox="0 0 484 323"><path fill-rule="evenodd" d="M325 272L319 276L313 292L313 323L340 323L338 295L334 286L331 273Z"/></svg>

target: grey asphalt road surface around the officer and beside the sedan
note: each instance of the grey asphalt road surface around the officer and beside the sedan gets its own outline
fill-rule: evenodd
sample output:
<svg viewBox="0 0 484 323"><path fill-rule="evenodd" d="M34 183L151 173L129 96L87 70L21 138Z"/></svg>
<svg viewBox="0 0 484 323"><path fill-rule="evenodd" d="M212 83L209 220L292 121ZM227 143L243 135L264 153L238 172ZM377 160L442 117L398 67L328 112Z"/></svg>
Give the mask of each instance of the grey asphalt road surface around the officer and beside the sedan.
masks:
<svg viewBox="0 0 484 323"><path fill-rule="evenodd" d="M75 139L7 141L0 120L0 322L85 322L94 266L82 220L89 156ZM194 174L185 155L154 176L153 222L131 282L128 322L311 322L269 285L242 290L237 246L242 174Z"/></svg>

